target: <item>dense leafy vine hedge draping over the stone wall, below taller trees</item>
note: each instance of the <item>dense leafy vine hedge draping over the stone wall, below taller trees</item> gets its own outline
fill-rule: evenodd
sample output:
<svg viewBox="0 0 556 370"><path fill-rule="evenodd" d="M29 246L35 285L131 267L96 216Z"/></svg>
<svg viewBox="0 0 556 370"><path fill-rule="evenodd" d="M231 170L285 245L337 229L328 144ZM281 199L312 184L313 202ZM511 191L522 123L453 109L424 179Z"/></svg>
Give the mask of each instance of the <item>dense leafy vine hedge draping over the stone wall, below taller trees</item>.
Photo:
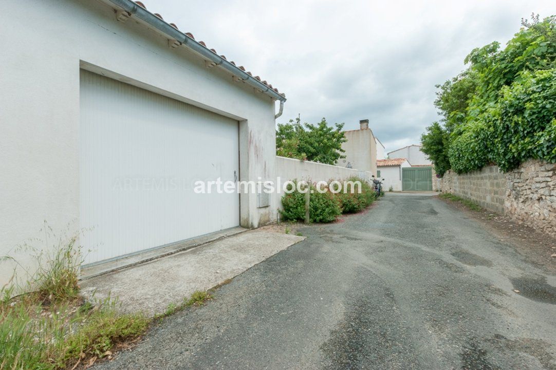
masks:
<svg viewBox="0 0 556 370"><path fill-rule="evenodd" d="M556 68L525 71L500 98L452 134L448 151L458 173L489 163L509 171L528 159L556 162Z"/></svg>

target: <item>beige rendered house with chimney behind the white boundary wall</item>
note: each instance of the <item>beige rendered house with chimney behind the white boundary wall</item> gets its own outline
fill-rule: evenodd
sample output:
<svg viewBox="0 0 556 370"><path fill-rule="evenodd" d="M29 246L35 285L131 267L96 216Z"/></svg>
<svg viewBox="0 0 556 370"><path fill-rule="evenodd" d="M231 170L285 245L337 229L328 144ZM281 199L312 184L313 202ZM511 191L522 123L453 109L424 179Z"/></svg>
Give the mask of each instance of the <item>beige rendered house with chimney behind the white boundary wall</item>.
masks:
<svg viewBox="0 0 556 370"><path fill-rule="evenodd" d="M376 141L369 120L359 121L359 130L344 131L344 134L347 141L342 149L346 157L337 165L376 174Z"/></svg>

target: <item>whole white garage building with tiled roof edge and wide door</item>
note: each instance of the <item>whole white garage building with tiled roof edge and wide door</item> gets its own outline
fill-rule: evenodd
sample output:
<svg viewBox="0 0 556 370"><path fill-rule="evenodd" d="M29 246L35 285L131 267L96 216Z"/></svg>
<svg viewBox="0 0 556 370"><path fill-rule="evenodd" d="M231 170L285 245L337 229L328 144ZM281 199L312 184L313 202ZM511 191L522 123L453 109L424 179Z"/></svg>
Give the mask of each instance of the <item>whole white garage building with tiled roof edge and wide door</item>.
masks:
<svg viewBox="0 0 556 370"><path fill-rule="evenodd" d="M31 265L14 248L43 220L73 221L95 264L275 218L277 197L193 184L272 179L276 88L140 2L23 0L2 12L0 255ZM11 273L0 269L0 285Z"/></svg>

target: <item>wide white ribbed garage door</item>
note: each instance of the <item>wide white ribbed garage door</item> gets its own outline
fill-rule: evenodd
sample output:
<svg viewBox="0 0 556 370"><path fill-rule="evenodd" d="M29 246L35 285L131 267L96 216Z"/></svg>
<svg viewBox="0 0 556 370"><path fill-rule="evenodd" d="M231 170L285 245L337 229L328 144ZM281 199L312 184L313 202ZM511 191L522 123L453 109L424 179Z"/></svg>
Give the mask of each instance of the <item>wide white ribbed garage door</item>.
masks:
<svg viewBox="0 0 556 370"><path fill-rule="evenodd" d="M80 223L85 264L239 225L238 122L81 72ZM88 253L87 253L88 251Z"/></svg>

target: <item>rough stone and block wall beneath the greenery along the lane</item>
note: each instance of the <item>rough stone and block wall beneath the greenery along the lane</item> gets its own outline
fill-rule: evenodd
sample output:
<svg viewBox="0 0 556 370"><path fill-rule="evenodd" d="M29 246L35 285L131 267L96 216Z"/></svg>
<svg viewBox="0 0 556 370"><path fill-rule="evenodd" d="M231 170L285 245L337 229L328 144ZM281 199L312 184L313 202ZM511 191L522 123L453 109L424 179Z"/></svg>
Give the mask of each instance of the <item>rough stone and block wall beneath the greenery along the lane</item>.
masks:
<svg viewBox="0 0 556 370"><path fill-rule="evenodd" d="M556 164L529 160L505 174L498 166L461 175L448 171L440 186L441 191L556 236Z"/></svg>

